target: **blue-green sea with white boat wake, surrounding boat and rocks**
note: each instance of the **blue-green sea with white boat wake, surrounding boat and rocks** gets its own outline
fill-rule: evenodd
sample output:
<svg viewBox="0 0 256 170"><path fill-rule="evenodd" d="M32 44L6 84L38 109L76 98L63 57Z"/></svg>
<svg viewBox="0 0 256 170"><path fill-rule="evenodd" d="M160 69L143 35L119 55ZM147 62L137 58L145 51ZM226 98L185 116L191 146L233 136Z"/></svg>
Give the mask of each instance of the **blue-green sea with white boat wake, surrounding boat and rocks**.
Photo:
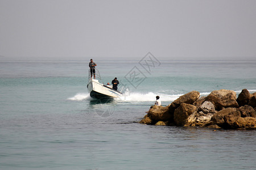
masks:
<svg viewBox="0 0 256 170"><path fill-rule="evenodd" d="M256 92L256 60L97 59L123 96L94 100L89 59L0 60L0 169L256 169L255 130L139 124L199 91Z"/></svg>

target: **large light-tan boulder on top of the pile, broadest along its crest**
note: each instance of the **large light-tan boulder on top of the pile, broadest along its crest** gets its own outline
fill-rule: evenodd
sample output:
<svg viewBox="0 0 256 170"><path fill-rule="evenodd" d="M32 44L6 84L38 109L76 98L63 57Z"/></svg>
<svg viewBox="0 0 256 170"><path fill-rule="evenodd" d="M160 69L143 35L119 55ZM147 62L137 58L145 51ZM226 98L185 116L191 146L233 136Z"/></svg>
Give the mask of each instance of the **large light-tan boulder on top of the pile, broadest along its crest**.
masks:
<svg viewBox="0 0 256 170"><path fill-rule="evenodd" d="M206 100L211 101L218 110L238 107L236 92L232 90L214 90L207 96Z"/></svg>

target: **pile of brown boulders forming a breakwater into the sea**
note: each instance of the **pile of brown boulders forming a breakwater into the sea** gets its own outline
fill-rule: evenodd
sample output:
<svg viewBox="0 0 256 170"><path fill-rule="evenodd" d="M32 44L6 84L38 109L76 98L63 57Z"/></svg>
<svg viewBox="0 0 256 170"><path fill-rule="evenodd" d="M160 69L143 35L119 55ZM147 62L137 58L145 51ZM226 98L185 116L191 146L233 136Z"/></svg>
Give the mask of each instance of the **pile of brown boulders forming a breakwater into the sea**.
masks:
<svg viewBox="0 0 256 170"><path fill-rule="evenodd" d="M255 130L255 111L256 92L243 89L236 97L236 92L222 89L200 97L199 92L191 91L166 107L151 106L140 123Z"/></svg>

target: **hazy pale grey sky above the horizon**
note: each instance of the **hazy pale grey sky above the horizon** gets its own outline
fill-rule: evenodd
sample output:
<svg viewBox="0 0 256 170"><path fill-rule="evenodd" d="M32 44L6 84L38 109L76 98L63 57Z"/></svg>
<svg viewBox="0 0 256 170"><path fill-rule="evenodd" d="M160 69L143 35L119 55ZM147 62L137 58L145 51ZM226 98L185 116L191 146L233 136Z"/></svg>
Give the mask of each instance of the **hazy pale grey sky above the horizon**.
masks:
<svg viewBox="0 0 256 170"><path fill-rule="evenodd" d="M0 59L256 58L255 0L0 0L0 24Z"/></svg>

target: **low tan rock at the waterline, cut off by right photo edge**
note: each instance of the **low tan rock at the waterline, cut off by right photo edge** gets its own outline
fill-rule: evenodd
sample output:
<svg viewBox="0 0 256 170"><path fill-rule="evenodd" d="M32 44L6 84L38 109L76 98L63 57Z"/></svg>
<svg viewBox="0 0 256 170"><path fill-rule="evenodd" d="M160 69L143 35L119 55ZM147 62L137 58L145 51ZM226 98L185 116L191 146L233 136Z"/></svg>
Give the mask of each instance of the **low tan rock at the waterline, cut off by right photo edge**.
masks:
<svg viewBox="0 0 256 170"><path fill-rule="evenodd" d="M240 117L236 121L238 129L256 130L256 119L254 117Z"/></svg>

